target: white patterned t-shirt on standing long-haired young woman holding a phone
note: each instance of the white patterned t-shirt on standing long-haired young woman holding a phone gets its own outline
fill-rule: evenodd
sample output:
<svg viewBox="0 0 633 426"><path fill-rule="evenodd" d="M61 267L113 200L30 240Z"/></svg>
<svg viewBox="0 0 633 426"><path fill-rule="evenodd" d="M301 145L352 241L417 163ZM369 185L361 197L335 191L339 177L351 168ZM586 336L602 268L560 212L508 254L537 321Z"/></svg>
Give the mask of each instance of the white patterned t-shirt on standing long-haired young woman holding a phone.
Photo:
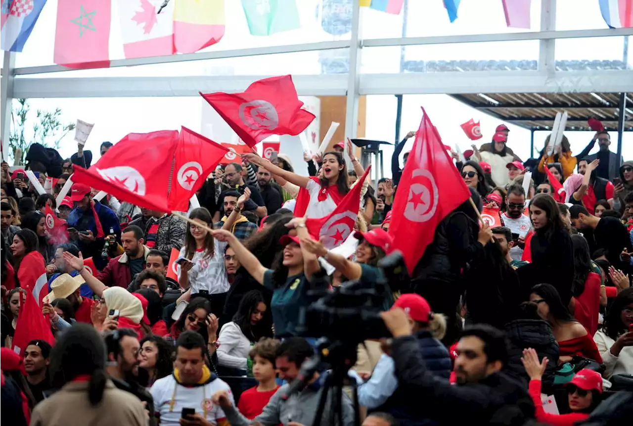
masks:
<svg viewBox="0 0 633 426"><path fill-rule="evenodd" d="M224 267L224 249L226 246L226 242L215 240L213 256L206 256L206 251L196 251L191 260L195 265L189 270L191 294L199 293L201 290L206 290L209 294L229 291L229 279ZM182 247L180 257L184 255L185 247ZM180 268L178 269L178 277L180 278Z"/></svg>

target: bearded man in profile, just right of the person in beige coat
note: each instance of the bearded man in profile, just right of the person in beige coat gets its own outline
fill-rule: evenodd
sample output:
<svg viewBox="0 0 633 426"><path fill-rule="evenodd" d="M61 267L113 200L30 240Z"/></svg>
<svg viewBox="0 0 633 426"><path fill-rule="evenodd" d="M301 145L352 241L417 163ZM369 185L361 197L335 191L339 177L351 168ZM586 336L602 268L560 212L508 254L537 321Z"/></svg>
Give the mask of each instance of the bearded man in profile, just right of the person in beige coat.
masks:
<svg viewBox="0 0 633 426"><path fill-rule="evenodd" d="M141 399L145 410L149 413L149 424L156 425L154 399L136 380L139 373L138 355L141 349L137 333L131 329L118 329L106 334L104 339L108 353L106 374L118 389L130 392Z"/></svg>

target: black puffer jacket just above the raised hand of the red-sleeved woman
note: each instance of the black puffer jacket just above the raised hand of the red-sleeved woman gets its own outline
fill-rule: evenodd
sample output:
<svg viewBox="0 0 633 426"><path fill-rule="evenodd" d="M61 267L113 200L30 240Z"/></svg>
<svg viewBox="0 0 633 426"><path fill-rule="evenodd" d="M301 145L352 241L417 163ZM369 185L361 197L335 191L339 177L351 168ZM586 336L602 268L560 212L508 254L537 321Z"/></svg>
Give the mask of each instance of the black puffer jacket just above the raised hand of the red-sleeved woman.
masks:
<svg viewBox="0 0 633 426"><path fill-rule="evenodd" d="M548 366L542 378L543 392L549 394L554 383L554 372L558 364L558 342L552 334L547 322L542 320L516 320L506 324L506 335L510 341L509 359L505 372L517 379L523 380L527 387L530 378L525 373L521 357L523 349L532 348L539 355L539 360L548 357Z"/></svg>

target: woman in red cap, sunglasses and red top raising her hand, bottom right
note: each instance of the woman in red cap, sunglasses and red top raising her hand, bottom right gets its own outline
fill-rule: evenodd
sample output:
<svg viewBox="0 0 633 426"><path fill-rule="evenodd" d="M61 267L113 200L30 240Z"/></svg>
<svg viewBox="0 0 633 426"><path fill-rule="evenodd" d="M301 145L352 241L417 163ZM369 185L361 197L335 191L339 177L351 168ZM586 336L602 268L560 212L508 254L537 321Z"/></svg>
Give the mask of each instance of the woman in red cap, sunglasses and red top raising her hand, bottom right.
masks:
<svg viewBox="0 0 633 426"><path fill-rule="evenodd" d="M602 377L598 372L583 368L566 385L569 409L567 414L551 414L543 410L541 402L541 378L548 365L548 358L544 357L539 363L539 356L532 348L523 350L521 358L525 372L530 376L529 393L534 402L536 421L553 426L572 426L576 422L585 420L591 411L600 403L602 394Z"/></svg>

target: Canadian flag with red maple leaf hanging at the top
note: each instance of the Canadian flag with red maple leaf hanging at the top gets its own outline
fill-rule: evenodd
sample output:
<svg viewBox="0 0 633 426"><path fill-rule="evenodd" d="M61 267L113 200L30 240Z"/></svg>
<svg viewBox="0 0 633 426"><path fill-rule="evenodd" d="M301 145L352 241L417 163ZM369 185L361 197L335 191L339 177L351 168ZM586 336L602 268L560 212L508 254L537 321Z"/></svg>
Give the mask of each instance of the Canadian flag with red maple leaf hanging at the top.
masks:
<svg viewBox="0 0 633 426"><path fill-rule="evenodd" d="M173 54L173 1L161 13L163 0L125 0L118 3L125 58Z"/></svg>

